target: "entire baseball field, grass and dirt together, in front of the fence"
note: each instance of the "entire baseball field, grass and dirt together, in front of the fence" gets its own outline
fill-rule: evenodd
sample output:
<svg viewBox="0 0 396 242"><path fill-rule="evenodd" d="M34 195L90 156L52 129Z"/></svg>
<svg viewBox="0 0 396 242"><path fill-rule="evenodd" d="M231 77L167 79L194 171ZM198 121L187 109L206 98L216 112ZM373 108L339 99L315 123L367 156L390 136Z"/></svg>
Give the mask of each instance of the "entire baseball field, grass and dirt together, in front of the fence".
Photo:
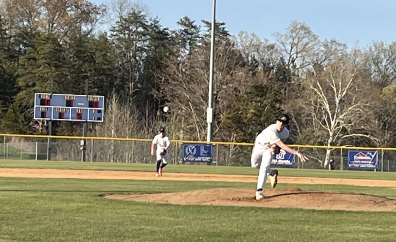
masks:
<svg viewBox="0 0 396 242"><path fill-rule="evenodd" d="M394 241L394 172L0 161L0 241Z"/></svg>

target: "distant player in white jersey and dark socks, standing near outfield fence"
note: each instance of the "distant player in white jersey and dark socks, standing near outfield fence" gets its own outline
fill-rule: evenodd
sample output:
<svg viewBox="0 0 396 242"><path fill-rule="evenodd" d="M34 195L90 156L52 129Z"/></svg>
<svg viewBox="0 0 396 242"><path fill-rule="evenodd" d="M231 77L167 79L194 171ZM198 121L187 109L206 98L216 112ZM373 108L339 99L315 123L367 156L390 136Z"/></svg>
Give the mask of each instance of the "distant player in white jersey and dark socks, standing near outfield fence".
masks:
<svg viewBox="0 0 396 242"><path fill-rule="evenodd" d="M170 145L169 137L165 134L165 128L159 128L159 132L155 135L151 143L151 155L154 155L154 148L157 145L156 151L156 172L155 176L160 177L163 175L163 168L168 164L168 148ZM161 164L162 163L162 164Z"/></svg>

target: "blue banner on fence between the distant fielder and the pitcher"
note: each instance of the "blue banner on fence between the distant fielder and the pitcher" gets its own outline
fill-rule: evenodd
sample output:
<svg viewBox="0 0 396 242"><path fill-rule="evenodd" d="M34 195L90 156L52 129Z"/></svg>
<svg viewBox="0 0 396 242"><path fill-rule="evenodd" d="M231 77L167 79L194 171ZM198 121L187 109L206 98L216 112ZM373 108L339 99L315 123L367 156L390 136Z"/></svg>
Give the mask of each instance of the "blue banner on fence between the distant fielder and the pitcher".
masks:
<svg viewBox="0 0 396 242"><path fill-rule="evenodd" d="M212 162L212 144L183 144L183 162Z"/></svg>

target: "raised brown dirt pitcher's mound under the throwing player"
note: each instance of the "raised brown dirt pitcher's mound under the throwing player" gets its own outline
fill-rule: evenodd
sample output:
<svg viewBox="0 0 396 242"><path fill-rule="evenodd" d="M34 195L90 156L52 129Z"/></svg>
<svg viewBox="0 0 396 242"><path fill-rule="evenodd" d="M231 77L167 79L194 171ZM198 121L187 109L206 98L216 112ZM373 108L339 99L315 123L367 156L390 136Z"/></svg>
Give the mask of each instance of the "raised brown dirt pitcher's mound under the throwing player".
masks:
<svg viewBox="0 0 396 242"><path fill-rule="evenodd" d="M111 194L106 198L171 204L201 204L226 206L263 206L318 210L393 211L396 200L385 197L339 193L264 189L265 199L257 201L254 189L217 188L181 193Z"/></svg>

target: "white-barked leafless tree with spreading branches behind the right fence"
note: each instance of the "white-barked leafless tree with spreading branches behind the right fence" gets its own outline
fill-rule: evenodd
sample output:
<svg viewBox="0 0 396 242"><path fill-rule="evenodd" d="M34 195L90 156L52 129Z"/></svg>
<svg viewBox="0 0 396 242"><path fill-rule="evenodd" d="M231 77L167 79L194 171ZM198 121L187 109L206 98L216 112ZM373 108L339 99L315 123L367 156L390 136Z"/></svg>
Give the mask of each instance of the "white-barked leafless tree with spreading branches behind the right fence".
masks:
<svg viewBox="0 0 396 242"><path fill-rule="evenodd" d="M367 122L364 121L372 91L364 80L363 64L362 55L354 50L335 58L322 70L313 69L304 80L308 88L304 93L305 114L311 114L314 132L326 132L324 142L327 146L352 136L375 139L370 134L355 132L356 127L365 129ZM331 149L327 149L325 166L330 152Z"/></svg>

